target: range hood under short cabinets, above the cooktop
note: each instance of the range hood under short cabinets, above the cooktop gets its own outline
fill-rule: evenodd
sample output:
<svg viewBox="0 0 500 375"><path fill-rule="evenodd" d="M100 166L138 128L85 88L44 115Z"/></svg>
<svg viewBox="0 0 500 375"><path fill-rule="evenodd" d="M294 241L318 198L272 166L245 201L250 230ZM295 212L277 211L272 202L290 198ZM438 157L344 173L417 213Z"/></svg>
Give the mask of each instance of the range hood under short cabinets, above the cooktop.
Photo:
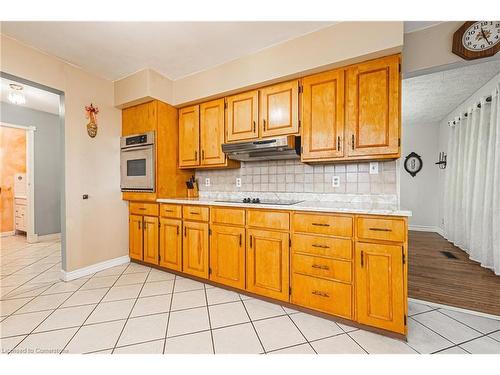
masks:
<svg viewBox="0 0 500 375"><path fill-rule="evenodd" d="M300 158L300 137L283 136L259 141L225 143L222 151L229 159L240 161Z"/></svg>

